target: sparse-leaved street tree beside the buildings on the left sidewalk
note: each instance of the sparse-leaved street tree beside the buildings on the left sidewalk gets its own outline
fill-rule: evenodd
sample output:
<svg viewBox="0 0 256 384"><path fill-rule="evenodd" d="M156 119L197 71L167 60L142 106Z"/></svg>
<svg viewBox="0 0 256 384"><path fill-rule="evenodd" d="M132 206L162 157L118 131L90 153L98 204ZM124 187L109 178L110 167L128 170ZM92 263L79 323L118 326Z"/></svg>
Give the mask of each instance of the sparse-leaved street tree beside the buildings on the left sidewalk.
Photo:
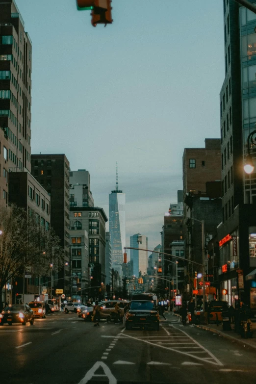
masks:
<svg viewBox="0 0 256 384"><path fill-rule="evenodd" d="M29 216L16 205L0 208L0 292L24 270L47 276L50 264L61 269L64 251L52 229L46 230L39 216Z"/></svg>

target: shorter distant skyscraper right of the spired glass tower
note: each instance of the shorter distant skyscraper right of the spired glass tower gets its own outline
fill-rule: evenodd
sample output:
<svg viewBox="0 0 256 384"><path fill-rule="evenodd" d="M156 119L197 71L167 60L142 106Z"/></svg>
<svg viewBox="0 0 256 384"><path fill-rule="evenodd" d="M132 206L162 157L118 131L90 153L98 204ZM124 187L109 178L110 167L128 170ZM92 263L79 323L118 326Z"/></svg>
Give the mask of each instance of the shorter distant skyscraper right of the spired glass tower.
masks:
<svg viewBox="0 0 256 384"><path fill-rule="evenodd" d="M130 236L130 247L131 248L148 248L148 238L147 236L136 233L133 236ZM136 277L139 276L141 272L142 275L147 273L148 267L148 252L142 250L130 250L130 259L133 261L133 275Z"/></svg>

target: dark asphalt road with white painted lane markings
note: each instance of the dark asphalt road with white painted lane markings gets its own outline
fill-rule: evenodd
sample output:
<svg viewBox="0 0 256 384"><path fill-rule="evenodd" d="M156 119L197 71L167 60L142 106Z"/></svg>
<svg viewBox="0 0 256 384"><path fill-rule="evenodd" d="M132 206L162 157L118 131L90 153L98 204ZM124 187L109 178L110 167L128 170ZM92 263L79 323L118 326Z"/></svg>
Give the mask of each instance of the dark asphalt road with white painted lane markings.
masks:
<svg viewBox="0 0 256 384"><path fill-rule="evenodd" d="M1 384L255 384L256 352L168 315L160 331L76 314L0 327Z"/></svg>

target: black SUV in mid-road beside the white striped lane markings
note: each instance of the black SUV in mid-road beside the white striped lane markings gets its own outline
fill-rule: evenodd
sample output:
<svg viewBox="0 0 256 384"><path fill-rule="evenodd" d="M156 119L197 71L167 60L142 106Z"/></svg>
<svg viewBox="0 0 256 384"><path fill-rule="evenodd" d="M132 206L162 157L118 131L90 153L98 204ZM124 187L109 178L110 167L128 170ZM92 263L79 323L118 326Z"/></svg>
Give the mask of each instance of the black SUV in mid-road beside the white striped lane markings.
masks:
<svg viewBox="0 0 256 384"><path fill-rule="evenodd" d="M154 301L132 300L125 316L127 330L133 327L159 331L159 315Z"/></svg>

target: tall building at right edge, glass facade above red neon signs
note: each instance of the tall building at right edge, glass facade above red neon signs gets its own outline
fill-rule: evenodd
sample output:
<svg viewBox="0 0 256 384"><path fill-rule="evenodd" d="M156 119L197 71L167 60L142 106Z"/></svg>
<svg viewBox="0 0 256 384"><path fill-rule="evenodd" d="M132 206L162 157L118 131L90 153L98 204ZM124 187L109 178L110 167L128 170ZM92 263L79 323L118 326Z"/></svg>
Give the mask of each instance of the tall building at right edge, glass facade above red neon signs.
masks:
<svg viewBox="0 0 256 384"><path fill-rule="evenodd" d="M223 6L219 299L233 306L240 299L256 311L256 171L247 175L243 170L247 138L256 129L256 14L234 0L223 0ZM250 147L256 165L256 146Z"/></svg>

